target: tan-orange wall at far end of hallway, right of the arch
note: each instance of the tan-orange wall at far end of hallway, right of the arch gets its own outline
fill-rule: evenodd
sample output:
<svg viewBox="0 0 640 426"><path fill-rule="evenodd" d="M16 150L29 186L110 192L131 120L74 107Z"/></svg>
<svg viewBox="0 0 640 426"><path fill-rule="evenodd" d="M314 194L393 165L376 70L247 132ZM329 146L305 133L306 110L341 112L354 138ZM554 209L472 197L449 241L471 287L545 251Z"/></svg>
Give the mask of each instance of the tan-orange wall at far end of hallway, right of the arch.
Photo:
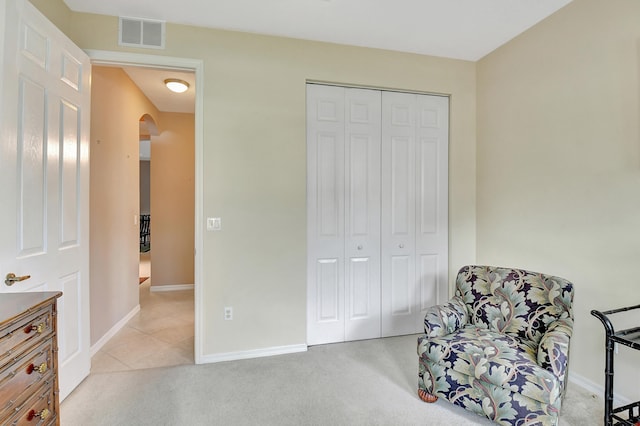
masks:
<svg viewBox="0 0 640 426"><path fill-rule="evenodd" d="M151 285L193 284L194 115L161 112L151 137Z"/></svg>

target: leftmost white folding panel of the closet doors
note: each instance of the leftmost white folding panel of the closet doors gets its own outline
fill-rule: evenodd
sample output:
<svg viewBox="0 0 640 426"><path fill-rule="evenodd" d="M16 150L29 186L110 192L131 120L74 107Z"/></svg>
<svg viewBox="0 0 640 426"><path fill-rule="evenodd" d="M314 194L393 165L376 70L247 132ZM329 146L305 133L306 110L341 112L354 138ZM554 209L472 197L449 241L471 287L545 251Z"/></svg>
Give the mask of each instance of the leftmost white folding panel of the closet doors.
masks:
<svg viewBox="0 0 640 426"><path fill-rule="evenodd" d="M344 340L344 89L307 86L307 335Z"/></svg>

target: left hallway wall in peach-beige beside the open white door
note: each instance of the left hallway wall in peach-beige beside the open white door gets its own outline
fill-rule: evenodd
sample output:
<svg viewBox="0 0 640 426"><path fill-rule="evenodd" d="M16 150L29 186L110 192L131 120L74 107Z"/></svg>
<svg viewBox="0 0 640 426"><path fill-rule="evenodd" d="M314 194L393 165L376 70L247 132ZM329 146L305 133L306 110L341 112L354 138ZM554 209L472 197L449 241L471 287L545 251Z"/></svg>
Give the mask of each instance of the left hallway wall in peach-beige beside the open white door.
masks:
<svg viewBox="0 0 640 426"><path fill-rule="evenodd" d="M119 68L91 81L91 344L139 303L139 120L158 116ZM156 119L157 120L157 119ZM156 121L157 122L157 121Z"/></svg>

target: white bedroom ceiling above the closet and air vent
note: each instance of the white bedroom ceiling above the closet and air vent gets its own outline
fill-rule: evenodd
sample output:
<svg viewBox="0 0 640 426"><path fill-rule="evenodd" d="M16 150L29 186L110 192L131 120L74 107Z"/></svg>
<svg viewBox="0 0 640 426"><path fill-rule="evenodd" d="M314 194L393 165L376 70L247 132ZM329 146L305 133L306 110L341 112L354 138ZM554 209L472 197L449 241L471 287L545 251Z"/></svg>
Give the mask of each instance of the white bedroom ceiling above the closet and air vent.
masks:
<svg viewBox="0 0 640 426"><path fill-rule="evenodd" d="M64 0L75 11L476 61L571 0Z"/></svg>

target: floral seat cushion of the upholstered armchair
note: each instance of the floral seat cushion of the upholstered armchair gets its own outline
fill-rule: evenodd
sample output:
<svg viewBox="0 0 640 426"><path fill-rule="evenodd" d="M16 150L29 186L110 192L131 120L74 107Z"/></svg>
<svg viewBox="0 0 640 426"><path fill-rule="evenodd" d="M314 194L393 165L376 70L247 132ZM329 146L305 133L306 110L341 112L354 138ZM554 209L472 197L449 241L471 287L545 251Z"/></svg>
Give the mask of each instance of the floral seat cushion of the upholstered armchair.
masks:
<svg viewBox="0 0 640 426"><path fill-rule="evenodd" d="M418 355L450 369L447 381L453 379L462 385L473 377L557 405L560 380L538 365L534 346L519 337L470 324L445 336L419 337Z"/></svg>

